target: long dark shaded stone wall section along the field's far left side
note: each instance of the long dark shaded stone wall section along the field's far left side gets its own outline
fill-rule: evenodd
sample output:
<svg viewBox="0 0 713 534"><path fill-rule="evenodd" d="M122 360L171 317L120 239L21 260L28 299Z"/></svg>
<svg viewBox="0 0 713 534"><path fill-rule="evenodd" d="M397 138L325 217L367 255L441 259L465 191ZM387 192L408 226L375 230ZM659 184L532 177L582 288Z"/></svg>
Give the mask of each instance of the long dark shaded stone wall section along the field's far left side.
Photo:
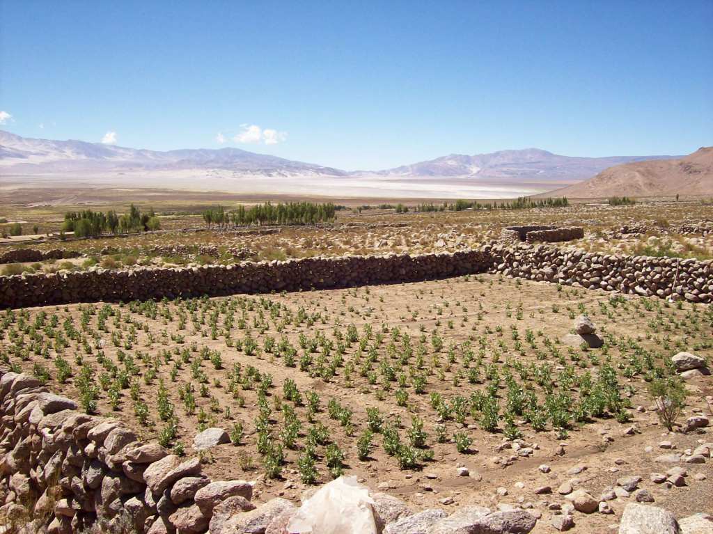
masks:
<svg viewBox="0 0 713 534"><path fill-rule="evenodd" d="M488 253L470 250L417 256L315 257L203 267L17 274L0 277L0 308L416 282L486 272L491 267Z"/></svg>

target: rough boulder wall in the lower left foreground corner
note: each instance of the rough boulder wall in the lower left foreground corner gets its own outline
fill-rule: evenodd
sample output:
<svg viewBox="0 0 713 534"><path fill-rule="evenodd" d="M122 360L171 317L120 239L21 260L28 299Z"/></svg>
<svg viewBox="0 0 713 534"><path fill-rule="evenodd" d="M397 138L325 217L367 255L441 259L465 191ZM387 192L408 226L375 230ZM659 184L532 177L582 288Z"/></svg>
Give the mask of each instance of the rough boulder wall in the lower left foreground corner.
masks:
<svg viewBox="0 0 713 534"><path fill-rule="evenodd" d="M71 534L98 523L107 532L200 533L215 513L256 508L252 483L210 481L198 458L142 443L116 419L78 412L34 376L4 369L0 376L0 514L23 520L34 506L27 532ZM260 508L294 505L273 499Z"/></svg>

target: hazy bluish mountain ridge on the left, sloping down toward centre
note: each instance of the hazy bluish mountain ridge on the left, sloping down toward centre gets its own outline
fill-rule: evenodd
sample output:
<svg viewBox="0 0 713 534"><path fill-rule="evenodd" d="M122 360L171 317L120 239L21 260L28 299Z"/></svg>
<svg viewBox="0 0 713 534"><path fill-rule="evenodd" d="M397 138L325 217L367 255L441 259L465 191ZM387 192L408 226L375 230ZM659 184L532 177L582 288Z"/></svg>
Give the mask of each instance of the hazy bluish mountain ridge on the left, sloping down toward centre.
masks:
<svg viewBox="0 0 713 534"><path fill-rule="evenodd" d="M0 172L15 175L135 170L220 169L251 174L344 176L342 170L256 154L239 148L137 150L84 141L23 138L0 130Z"/></svg>

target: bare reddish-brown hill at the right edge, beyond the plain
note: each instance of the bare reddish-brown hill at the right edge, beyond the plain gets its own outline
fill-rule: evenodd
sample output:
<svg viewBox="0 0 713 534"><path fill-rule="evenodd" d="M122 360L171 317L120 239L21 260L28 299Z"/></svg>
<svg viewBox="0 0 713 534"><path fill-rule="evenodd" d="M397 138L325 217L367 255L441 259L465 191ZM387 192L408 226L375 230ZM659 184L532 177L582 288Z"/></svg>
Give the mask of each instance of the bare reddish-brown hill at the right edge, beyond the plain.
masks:
<svg viewBox="0 0 713 534"><path fill-rule="evenodd" d="M677 160L649 160L615 165L594 178L548 196L595 198L665 195L713 195L713 147Z"/></svg>

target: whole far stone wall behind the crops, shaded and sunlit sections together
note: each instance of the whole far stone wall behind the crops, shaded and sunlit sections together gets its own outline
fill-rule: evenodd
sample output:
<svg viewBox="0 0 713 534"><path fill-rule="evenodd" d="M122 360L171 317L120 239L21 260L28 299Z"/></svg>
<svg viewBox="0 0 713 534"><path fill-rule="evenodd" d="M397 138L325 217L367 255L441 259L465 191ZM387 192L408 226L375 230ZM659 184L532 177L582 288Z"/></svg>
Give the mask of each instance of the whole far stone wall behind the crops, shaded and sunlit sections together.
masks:
<svg viewBox="0 0 713 534"><path fill-rule="evenodd" d="M417 256L315 257L203 267L18 274L0 277L0 307L333 289L488 271L588 289L713 302L711 261L604 255L520 244Z"/></svg>

